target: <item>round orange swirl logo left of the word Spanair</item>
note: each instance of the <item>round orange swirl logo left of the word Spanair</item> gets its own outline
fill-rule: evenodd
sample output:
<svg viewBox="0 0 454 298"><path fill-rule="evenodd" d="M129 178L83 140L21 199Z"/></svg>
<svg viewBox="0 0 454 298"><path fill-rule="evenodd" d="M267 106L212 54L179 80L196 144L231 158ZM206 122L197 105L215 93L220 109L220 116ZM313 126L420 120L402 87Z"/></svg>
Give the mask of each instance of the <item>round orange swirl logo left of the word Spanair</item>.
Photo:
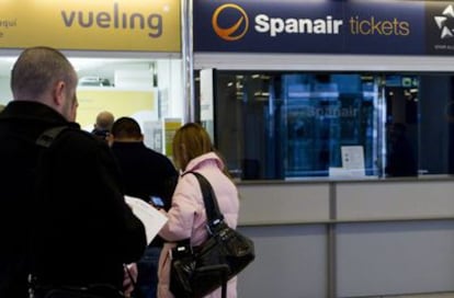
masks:
<svg viewBox="0 0 454 298"><path fill-rule="evenodd" d="M232 24L224 27L219 24L219 20L226 20L226 18L232 18L235 20ZM242 38L249 30L249 18L246 11L232 3L227 3L218 7L212 18L213 30L217 36L227 42L234 42Z"/></svg>

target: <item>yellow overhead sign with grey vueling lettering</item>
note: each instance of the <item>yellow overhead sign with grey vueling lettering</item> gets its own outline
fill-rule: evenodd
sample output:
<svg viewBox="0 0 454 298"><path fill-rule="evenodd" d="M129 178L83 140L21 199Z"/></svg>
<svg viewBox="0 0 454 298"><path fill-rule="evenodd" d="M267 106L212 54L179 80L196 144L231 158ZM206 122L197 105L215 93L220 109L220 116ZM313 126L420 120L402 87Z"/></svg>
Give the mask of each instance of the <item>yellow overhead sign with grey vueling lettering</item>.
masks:
<svg viewBox="0 0 454 298"><path fill-rule="evenodd" d="M0 0L0 47L181 51L179 0Z"/></svg>

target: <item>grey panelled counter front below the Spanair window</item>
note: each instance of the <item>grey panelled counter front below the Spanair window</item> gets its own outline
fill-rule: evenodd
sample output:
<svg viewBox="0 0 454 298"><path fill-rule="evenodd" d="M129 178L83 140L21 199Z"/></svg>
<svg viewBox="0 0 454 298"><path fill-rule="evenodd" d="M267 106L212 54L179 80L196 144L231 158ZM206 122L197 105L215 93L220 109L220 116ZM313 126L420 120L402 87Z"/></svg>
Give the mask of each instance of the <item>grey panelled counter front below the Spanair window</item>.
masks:
<svg viewBox="0 0 454 298"><path fill-rule="evenodd" d="M238 182L257 259L238 297L454 291L454 180Z"/></svg>

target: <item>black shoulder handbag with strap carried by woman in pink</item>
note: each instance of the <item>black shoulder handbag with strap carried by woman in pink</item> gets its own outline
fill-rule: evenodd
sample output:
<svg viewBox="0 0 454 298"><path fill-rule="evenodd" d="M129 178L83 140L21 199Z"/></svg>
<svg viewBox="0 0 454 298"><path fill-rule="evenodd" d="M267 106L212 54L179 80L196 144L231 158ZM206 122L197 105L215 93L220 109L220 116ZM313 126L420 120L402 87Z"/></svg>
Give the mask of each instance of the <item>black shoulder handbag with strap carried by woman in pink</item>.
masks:
<svg viewBox="0 0 454 298"><path fill-rule="evenodd" d="M223 287L256 257L251 239L224 222L216 196L209 182L194 174L202 188L207 215L208 239L192 248L190 240L178 242L171 251L170 291L177 298L203 297Z"/></svg>

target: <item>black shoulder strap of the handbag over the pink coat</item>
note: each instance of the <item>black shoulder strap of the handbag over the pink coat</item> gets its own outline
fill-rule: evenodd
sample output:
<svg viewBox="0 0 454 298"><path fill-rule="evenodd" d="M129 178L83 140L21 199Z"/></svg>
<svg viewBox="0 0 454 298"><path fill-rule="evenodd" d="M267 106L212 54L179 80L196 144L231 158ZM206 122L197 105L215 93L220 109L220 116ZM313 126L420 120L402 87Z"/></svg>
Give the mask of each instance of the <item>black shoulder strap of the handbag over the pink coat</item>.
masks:
<svg viewBox="0 0 454 298"><path fill-rule="evenodd" d="M208 229L212 232L212 228L224 220L224 215L219 210L216 195L213 191L212 184L206 180L204 175L197 172L188 172L195 175L201 185L203 202L205 204L206 217L208 218Z"/></svg>

